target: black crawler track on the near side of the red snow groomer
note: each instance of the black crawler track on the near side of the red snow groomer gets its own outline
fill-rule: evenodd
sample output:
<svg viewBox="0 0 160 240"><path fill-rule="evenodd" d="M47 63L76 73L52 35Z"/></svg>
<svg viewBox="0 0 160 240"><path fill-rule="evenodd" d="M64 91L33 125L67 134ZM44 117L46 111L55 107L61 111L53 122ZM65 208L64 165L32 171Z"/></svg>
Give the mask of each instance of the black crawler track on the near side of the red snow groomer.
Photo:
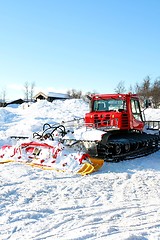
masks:
<svg viewBox="0 0 160 240"><path fill-rule="evenodd" d="M122 140L123 139L123 140ZM140 144L140 148L131 149L128 152L124 152L122 150L121 153L115 153L114 149L116 146L120 145L121 149L124 149L125 141L134 146L137 143ZM154 141L157 144L153 144ZM146 144L148 142L149 145L143 146L143 143ZM151 145L150 145L151 144ZM160 150L160 136L152 135L152 134L129 134L129 135L111 135L110 140L106 140L105 142L99 145L98 155L99 157L103 157L106 162L119 162L124 160L130 160L135 158L140 158L143 156L150 155L156 151Z"/></svg>

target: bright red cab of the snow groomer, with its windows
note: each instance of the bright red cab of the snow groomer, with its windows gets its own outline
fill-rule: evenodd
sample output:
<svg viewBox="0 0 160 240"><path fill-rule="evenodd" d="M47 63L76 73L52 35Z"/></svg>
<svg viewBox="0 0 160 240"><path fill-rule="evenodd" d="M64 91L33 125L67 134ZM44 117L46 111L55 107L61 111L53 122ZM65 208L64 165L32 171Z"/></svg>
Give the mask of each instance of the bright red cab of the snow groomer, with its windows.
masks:
<svg viewBox="0 0 160 240"><path fill-rule="evenodd" d="M136 94L96 94L90 98L87 126L106 130L143 131L139 98Z"/></svg>

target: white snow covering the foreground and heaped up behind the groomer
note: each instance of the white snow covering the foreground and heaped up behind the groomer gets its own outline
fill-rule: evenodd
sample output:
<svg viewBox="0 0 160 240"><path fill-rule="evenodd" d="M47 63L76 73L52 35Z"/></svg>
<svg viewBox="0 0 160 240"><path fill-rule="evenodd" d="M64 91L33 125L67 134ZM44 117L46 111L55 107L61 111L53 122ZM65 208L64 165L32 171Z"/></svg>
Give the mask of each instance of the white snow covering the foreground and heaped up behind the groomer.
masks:
<svg viewBox="0 0 160 240"><path fill-rule="evenodd" d="M9 136L32 136L44 123L87 111L86 103L74 99L0 108L0 147ZM145 115L160 120L160 110ZM105 163L87 176L1 164L0 239L160 239L160 152Z"/></svg>

